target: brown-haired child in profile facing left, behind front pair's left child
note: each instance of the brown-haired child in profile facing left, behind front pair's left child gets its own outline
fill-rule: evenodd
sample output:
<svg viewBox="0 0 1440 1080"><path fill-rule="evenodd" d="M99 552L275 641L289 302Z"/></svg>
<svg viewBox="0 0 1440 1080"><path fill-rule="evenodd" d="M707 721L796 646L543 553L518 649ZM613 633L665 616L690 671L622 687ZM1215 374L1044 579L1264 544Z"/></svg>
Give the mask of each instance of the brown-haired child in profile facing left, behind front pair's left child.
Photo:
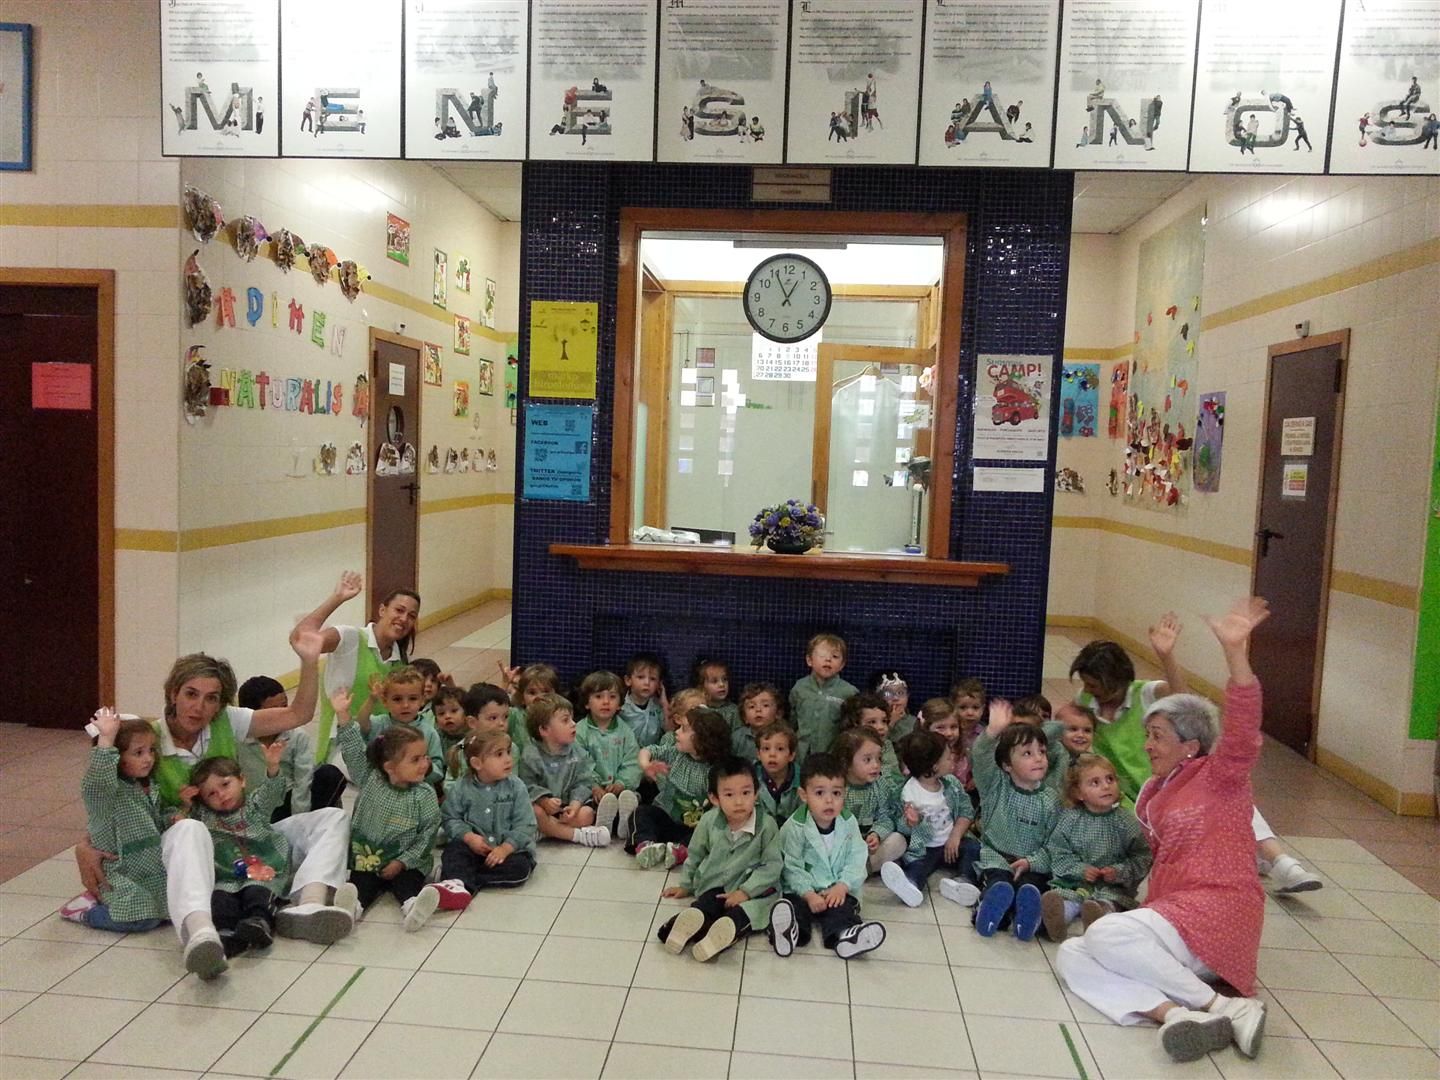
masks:
<svg viewBox="0 0 1440 1080"><path fill-rule="evenodd" d="M685 861L685 845L710 801L710 768L729 753L730 726L704 707L680 719L672 743L661 740L639 752L641 770L660 785L655 801L635 814L635 863L641 870L668 870Z"/></svg>

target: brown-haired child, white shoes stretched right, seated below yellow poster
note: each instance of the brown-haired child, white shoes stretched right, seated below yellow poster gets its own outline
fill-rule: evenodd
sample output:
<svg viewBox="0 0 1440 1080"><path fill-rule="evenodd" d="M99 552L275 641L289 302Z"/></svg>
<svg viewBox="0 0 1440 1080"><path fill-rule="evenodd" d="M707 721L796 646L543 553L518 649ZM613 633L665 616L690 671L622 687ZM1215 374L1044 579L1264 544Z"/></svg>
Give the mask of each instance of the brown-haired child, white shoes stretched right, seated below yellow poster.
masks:
<svg viewBox="0 0 1440 1080"><path fill-rule="evenodd" d="M541 837L588 848L611 842L611 831L595 824L590 802L599 778L589 755L575 743L575 708L559 694L544 694L526 708L530 744L520 753L520 779L530 791Z"/></svg>

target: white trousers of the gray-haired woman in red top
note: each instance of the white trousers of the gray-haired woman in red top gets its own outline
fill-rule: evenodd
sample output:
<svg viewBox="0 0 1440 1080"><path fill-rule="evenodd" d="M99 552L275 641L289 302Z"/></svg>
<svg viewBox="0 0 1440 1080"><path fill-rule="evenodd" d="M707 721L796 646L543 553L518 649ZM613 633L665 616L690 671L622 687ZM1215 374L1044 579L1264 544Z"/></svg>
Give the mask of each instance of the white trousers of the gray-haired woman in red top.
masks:
<svg viewBox="0 0 1440 1080"><path fill-rule="evenodd" d="M1097 919L1056 958L1060 978L1116 1024L1142 1024L1166 1001L1201 1008L1215 996L1215 975L1158 912L1140 907Z"/></svg>

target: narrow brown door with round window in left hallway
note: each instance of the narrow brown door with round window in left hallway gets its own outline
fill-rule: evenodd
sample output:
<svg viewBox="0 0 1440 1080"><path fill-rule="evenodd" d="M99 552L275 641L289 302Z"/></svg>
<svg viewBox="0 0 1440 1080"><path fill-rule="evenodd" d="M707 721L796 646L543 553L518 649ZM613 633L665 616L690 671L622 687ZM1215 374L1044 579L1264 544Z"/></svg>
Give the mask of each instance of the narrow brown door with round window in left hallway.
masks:
<svg viewBox="0 0 1440 1080"><path fill-rule="evenodd" d="M370 573L372 603L419 586L420 343L370 331Z"/></svg>

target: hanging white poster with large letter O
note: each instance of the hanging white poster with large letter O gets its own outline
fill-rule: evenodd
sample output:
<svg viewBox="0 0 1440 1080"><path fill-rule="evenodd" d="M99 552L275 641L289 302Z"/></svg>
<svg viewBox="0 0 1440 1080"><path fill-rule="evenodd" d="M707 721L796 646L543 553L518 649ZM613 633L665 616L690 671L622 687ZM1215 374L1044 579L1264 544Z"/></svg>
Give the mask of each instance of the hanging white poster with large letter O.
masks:
<svg viewBox="0 0 1440 1080"><path fill-rule="evenodd" d="M1341 0L1205 0L1192 173L1325 171L1339 20Z"/></svg>

